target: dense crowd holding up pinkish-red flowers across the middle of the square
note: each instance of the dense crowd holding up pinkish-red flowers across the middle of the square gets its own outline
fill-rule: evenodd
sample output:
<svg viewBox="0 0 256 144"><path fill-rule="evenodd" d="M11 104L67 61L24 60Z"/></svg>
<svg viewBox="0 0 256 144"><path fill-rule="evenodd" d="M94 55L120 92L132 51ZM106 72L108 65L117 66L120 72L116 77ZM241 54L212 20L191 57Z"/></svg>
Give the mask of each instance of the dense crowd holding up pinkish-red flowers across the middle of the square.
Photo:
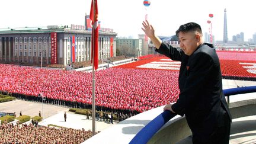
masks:
<svg viewBox="0 0 256 144"><path fill-rule="evenodd" d="M176 101L180 92L178 72L111 68L95 72L95 77L96 106L112 110L150 110ZM27 100L46 97L48 103L90 107L91 79L87 72L0 64L0 91Z"/></svg>

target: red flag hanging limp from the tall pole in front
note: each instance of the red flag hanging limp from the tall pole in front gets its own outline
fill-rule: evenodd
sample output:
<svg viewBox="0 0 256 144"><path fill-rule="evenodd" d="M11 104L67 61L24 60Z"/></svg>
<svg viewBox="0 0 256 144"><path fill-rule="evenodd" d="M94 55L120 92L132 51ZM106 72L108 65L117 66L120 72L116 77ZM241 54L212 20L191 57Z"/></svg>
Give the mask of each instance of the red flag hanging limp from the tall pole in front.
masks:
<svg viewBox="0 0 256 144"><path fill-rule="evenodd" d="M93 8L93 1L94 1L94 8ZM95 15L94 15L94 9L95 9ZM97 5L97 0L92 0L90 19L92 20L92 25L94 25L94 30L92 30L92 39L94 39L94 47L92 47L91 52L94 51L94 53L92 55L92 59L94 59L94 69L96 70L96 69L98 69L98 5Z"/></svg>

